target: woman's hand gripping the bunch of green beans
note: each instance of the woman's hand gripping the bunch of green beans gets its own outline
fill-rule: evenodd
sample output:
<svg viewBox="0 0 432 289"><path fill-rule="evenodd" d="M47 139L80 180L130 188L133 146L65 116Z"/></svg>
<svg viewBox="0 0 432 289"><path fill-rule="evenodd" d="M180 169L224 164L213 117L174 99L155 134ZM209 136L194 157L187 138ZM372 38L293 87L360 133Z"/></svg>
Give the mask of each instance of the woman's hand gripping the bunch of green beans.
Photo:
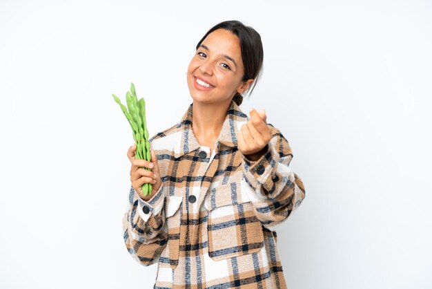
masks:
<svg viewBox="0 0 432 289"><path fill-rule="evenodd" d="M128 149L128 158L132 165L130 167L130 182L132 183L132 187L135 189L135 191L137 191L139 197L142 198L144 201L148 201L150 200L150 198L155 196L155 193L162 185L161 176L159 174L159 165L157 165L157 158L153 149L150 149L150 162L148 162L147 160L135 159L136 150L136 144L132 145L132 147ZM141 169L141 167L148 167L152 170L148 171L147 169ZM144 183L150 183L152 185L151 195L143 195L141 187L142 185L144 185Z"/></svg>

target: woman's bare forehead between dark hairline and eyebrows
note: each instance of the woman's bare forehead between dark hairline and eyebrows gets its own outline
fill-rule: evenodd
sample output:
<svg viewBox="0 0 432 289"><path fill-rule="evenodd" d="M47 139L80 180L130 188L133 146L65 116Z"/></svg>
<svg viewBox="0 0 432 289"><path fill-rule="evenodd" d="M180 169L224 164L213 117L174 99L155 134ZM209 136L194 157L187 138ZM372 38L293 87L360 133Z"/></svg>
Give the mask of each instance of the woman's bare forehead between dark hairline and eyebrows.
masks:
<svg viewBox="0 0 432 289"><path fill-rule="evenodd" d="M240 40L237 35L225 29L217 29L207 35L202 44L208 47L210 52L228 55L235 61L241 62L242 50L240 49Z"/></svg>

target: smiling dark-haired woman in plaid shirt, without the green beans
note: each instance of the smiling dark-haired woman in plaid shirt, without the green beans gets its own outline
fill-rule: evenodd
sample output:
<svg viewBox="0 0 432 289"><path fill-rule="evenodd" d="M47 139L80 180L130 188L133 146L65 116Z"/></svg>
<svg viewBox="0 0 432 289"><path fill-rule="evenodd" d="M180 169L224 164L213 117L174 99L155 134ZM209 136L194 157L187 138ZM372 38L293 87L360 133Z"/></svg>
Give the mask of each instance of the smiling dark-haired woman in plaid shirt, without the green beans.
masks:
<svg viewBox="0 0 432 289"><path fill-rule="evenodd" d="M150 139L151 162L128 150L126 248L143 265L158 261L155 288L286 288L270 227L300 205L304 186L265 111L239 109L262 68L261 38L224 21L196 49L181 121Z"/></svg>

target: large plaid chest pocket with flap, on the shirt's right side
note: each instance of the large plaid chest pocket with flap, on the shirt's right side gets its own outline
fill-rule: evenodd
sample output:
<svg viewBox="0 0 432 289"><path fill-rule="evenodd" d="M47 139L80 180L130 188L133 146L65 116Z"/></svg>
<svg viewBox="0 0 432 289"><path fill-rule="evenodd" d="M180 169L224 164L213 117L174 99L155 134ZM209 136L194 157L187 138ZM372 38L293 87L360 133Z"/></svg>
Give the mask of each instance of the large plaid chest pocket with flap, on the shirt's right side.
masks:
<svg viewBox="0 0 432 289"><path fill-rule="evenodd" d="M215 261L259 252L264 246L262 225L241 189L240 183L228 183L211 189L204 200L208 254Z"/></svg>

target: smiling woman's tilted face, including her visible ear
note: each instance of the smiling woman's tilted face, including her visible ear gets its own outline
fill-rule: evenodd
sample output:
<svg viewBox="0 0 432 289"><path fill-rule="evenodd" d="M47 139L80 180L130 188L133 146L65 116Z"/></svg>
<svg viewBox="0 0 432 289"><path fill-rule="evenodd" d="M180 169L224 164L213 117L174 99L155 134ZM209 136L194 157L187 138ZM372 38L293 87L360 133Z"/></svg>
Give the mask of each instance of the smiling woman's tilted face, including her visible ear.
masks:
<svg viewBox="0 0 432 289"><path fill-rule="evenodd" d="M190 60L188 88L194 101L230 102L236 92L246 91L252 80L242 82L244 66L239 38L232 32L211 32Z"/></svg>

